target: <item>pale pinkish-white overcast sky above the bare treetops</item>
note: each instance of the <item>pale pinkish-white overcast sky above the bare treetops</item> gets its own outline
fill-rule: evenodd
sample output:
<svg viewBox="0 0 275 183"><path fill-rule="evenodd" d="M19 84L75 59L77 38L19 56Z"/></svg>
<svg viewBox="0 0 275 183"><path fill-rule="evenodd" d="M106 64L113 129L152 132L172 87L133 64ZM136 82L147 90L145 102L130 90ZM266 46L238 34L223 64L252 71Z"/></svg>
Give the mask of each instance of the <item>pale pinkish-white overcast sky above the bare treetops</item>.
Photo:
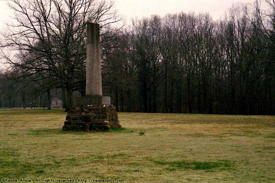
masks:
<svg viewBox="0 0 275 183"><path fill-rule="evenodd" d="M0 27L3 28L5 20L9 19L9 15L13 13L6 6L9 0L0 0ZM178 12L209 12L215 19L226 12L226 10L237 2L252 3L253 0L115 0L116 9L124 15L127 23L131 18L149 17L152 14L164 16L167 13Z"/></svg>

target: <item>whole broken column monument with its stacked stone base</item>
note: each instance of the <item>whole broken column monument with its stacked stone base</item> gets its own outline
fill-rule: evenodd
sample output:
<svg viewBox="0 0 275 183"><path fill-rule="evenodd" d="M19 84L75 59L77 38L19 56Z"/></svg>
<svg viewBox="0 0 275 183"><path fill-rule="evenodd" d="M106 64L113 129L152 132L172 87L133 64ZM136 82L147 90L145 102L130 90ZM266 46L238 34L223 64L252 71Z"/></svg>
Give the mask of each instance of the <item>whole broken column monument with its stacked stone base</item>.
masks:
<svg viewBox="0 0 275 183"><path fill-rule="evenodd" d="M62 129L102 131L120 127L111 98L102 96L99 24L87 23L86 96L77 97Z"/></svg>

